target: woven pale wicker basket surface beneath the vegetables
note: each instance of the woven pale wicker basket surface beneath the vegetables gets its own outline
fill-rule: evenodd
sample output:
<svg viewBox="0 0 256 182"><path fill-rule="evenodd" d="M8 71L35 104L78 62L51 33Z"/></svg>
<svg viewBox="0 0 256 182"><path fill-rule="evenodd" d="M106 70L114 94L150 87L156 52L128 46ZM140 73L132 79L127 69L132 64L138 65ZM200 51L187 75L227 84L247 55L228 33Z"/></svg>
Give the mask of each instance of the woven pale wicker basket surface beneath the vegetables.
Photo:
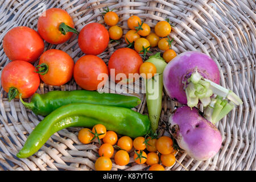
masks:
<svg viewBox="0 0 256 182"><path fill-rule="evenodd" d="M150 27L156 22L170 19L175 27L171 37L172 48L177 52L201 51L216 61L221 73L221 85L238 94L243 105L233 109L227 117L217 123L222 135L221 150L212 159L204 162L189 157L185 152L176 155L176 163L166 170L255 170L255 49L256 29L254 0L170 0L170 1L84 1L84 0L7 0L0 1L0 40L6 32L16 26L28 26L36 30L38 15L51 7L67 10L77 30L90 22L104 23L102 12L105 7L115 9L119 23L127 32L127 18L138 15ZM108 27L107 27L108 28ZM153 29L153 28L152 28ZM154 29L153 29L154 30ZM99 55L107 64L112 53L127 44L109 44ZM62 49L76 61L83 54L77 44L77 36L64 44L47 44L46 49ZM152 49L156 52L156 49ZM10 62L0 47L1 70ZM38 64L38 61L35 65ZM141 84L135 84L141 87ZM74 80L53 87L40 84L38 93L49 90L81 89ZM134 108L147 114L144 94L136 94L142 104ZM16 158L32 129L43 119L24 108L19 100L7 101L7 93L1 87L0 98L0 171L2 170L93 170L97 159L98 143L82 144L77 139L79 128L64 129L53 135L47 143L27 159ZM164 134L164 122L174 110L176 103L163 93L163 109L160 134ZM147 170L131 159L128 166L117 166L112 170Z"/></svg>

